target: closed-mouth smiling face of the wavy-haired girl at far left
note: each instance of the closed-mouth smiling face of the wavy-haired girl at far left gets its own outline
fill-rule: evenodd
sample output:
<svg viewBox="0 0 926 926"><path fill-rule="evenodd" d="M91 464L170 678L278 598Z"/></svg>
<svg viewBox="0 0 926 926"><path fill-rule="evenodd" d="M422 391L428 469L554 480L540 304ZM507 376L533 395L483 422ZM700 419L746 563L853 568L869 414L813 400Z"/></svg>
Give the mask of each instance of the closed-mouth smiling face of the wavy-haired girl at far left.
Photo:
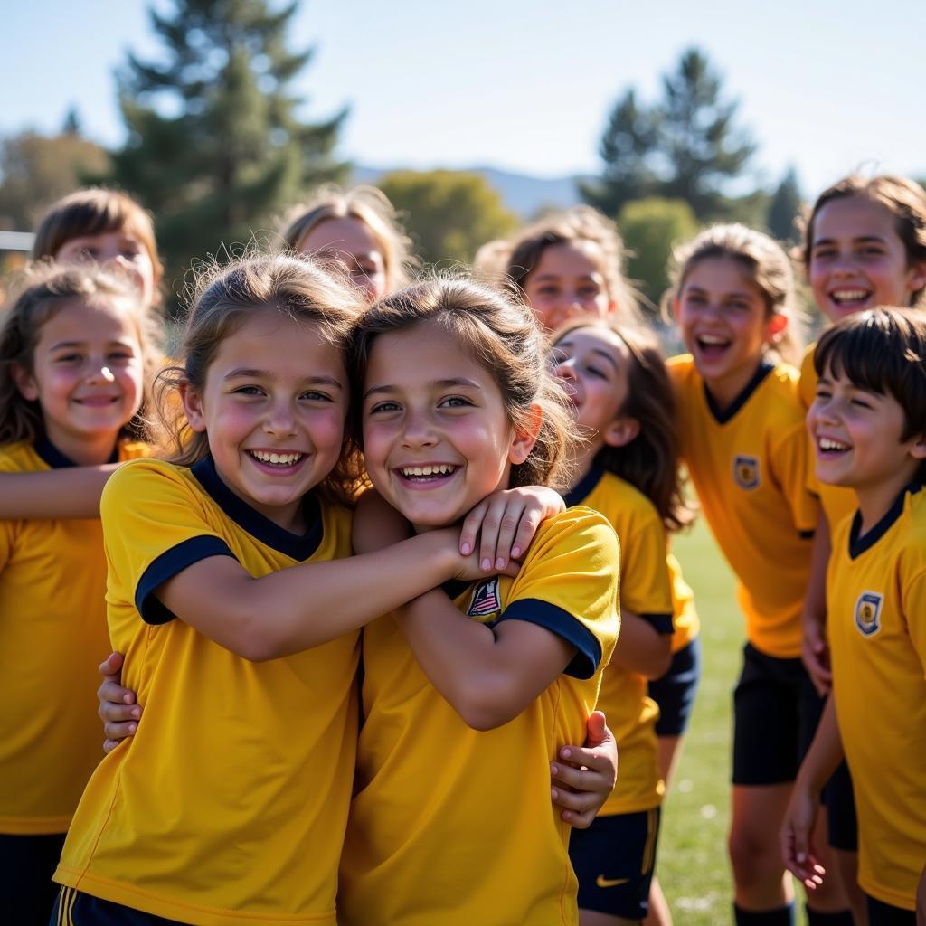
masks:
<svg viewBox="0 0 926 926"><path fill-rule="evenodd" d="M45 434L78 463L106 461L138 411L143 357L131 307L118 299L73 299L42 326L19 392L42 407Z"/></svg>

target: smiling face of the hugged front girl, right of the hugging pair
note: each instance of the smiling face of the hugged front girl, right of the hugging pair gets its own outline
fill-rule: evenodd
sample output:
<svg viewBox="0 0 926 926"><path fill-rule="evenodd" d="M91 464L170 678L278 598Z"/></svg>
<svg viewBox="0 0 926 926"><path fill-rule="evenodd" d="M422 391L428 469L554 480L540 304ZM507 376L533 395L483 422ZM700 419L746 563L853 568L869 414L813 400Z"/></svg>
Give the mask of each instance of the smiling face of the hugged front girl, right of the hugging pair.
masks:
<svg viewBox="0 0 926 926"><path fill-rule="evenodd" d="M508 485L531 451L488 369L435 321L379 335L363 394L363 449L377 491L418 530L454 524Z"/></svg>

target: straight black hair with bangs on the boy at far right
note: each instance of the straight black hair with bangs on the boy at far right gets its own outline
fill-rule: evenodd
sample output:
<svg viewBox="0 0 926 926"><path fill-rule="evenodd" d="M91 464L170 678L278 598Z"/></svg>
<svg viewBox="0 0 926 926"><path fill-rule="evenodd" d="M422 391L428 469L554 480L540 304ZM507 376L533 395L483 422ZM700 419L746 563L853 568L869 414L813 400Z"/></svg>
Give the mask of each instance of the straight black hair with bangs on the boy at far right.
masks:
<svg viewBox="0 0 926 926"><path fill-rule="evenodd" d="M893 395L904 409L901 441L926 437L926 318L906 308L879 307L842 319L820 336L818 376L832 371L859 389ZM917 478L926 481L926 460Z"/></svg>

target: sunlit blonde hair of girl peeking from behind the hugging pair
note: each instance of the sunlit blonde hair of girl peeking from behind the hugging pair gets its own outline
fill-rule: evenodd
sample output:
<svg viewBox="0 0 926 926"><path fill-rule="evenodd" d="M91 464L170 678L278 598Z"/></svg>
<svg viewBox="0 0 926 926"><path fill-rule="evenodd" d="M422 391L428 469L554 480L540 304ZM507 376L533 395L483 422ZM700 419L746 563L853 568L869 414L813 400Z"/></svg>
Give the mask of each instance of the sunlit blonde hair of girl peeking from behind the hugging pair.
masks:
<svg viewBox="0 0 926 926"><path fill-rule="evenodd" d="M380 245L387 291L393 293L407 286L418 260L411 255L411 239L386 194L373 186L356 186L351 190L333 184L319 187L312 199L293 206L283 217L284 244L290 251L298 251L308 233L327 219L363 222Z"/></svg>

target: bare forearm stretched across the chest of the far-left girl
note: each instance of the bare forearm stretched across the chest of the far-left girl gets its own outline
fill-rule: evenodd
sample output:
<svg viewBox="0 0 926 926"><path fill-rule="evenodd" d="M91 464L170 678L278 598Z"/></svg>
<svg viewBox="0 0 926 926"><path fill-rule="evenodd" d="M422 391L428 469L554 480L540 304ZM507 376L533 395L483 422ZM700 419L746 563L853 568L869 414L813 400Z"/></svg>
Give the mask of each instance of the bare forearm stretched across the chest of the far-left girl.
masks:
<svg viewBox="0 0 926 926"><path fill-rule="evenodd" d="M0 519L99 518L100 495L118 467L0 473Z"/></svg>

